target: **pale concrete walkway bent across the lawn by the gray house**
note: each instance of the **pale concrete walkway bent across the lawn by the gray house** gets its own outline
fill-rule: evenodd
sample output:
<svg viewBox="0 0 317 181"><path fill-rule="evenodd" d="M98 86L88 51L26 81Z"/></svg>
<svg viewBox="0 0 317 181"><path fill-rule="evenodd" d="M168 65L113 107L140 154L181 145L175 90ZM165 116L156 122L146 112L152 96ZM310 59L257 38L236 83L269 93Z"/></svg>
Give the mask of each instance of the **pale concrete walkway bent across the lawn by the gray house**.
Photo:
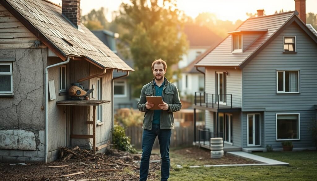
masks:
<svg viewBox="0 0 317 181"><path fill-rule="evenodd" d="M288 163L277 161L270 158L264 158L261 156L257 156L254 154L246 153L246 152L227 152L227 154L252 160L257 162L258 164L230 164L230 165L197 165L197 166L189 166L189 168L199 168L199 167L223 167L223 166L273 166L273 165L280 165L280 166L289 166ZM183 168L181 165L177 165L178 168Z"/></svg>

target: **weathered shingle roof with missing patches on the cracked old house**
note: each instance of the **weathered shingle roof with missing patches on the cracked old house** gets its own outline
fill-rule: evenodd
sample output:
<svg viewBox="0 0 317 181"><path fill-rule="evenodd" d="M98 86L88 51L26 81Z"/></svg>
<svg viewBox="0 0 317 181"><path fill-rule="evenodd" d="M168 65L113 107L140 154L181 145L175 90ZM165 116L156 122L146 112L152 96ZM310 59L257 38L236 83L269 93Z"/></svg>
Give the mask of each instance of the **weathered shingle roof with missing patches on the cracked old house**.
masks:
<svg viewBox="0 0 317 181"><path fill-rule="evenodd" d="M83 24L77 29L46 0L0 0L0 3L62 60L85 59L99 68L133 71Z"/></svg>

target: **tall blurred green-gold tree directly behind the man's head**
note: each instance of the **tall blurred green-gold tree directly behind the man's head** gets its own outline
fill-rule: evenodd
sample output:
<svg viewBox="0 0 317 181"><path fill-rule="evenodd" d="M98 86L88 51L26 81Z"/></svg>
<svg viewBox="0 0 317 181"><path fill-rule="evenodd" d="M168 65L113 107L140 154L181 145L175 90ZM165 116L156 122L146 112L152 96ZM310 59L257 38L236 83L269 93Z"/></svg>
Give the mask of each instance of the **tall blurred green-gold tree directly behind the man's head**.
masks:
<svg viewBox="0 0 317 181"><path fill-rule="evenodd" d="M116 22L130 30L121 37L130 45L135 72L129 80L133 97L139 97L143 85L153 79L152 61L162 58L171 67L187 51L183 13L174 0L130 0L121 4ZM168 68L165 77L172 81L172 74Z"/></svg>

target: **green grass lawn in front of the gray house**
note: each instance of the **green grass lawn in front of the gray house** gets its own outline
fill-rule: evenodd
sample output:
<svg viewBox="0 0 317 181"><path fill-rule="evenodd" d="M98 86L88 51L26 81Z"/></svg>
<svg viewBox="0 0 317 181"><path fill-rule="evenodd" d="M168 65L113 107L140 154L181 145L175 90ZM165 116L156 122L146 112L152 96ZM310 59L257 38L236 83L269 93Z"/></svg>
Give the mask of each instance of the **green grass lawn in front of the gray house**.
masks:
<svg viewBox="0 0 317 181"><path fill-rule="evenodd" d="M287 162L290 166L241 166L241 167L209 167L209 168L176 168L176 162L190 165L191 159L173 154L171 150L171 168L169 181L214 181L214 180L276 180L317 181L317 152L265 152L256 155ZM197 165L197 162L195 162ZM160 176L160 171L156 174ZM159 181L159 178L156 181Z"/></svg>

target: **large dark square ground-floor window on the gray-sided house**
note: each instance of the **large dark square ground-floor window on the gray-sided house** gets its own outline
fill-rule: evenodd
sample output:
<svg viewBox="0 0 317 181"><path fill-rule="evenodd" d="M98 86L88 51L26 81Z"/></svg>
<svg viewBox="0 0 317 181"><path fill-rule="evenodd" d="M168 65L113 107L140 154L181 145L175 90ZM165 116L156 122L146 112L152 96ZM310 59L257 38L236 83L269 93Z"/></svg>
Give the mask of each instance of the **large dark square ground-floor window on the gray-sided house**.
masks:
<svg viewBox="0 0 317 181"><path fill-rule="evenodd" d="M276 140L300 139L300 114L276 114Z"/></svg>

